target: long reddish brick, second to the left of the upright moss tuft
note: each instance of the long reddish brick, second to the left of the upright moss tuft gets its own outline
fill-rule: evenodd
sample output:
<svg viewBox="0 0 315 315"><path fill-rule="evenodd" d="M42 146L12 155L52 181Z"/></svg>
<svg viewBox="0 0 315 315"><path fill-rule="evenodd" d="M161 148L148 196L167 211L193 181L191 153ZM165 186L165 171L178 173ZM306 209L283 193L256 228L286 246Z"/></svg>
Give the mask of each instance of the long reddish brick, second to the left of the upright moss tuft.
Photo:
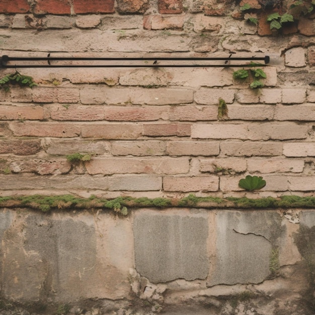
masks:
<svg viewBox="0 0 315 315"><path fill-rule="evenodd" d="M169 107L105 107L105 120L112 121L150 121L168 119Z"/></svg>

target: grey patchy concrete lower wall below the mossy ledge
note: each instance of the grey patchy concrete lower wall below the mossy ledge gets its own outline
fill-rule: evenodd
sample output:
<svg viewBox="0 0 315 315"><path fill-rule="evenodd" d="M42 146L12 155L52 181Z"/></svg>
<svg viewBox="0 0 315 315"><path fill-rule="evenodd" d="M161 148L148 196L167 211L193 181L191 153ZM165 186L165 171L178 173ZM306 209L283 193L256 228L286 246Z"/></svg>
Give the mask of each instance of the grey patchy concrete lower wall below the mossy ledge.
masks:
<svg viewBox="0 0 315 315"><path fill-rule="evenodd" d="M136 209L119 217L3 208L0 217L2 298L24 305L313 313L313 210Z"/></svg>

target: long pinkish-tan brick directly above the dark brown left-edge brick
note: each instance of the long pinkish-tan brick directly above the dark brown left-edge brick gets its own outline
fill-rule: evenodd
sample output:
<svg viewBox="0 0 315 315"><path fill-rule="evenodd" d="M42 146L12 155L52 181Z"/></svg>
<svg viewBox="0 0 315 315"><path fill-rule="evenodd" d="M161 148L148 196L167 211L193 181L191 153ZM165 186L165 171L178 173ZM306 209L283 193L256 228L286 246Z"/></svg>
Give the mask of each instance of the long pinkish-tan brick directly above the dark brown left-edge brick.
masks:
<svg viewBox="0 0 315 315"><path fill-rule="evenodd" d="M12 122L10 129L15 136L31 137L77 137L81 133L81 127L70 123L51 122Z"/></svg>

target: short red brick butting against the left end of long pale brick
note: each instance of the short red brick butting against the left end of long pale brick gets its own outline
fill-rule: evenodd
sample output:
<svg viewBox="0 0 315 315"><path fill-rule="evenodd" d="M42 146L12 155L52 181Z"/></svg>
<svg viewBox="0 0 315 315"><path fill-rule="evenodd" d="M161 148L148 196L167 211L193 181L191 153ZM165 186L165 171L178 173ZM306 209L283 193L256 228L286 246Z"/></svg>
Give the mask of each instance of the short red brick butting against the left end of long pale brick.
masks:
<svg viewBox="0 0 315 315"><path fill-rule="evenodd" d="M161 137L161 136L190 136L190 124L144 124L143 135Z"/></svg>

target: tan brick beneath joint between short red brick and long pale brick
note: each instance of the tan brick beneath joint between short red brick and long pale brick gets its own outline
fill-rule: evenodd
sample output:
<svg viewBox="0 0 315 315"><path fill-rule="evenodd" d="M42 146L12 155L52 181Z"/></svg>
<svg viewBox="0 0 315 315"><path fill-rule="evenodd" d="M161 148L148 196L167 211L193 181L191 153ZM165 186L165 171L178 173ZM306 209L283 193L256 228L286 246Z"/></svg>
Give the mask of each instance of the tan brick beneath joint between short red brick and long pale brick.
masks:
<svg viewBox="0 0 315 315"><path fill-rule="evenodd" d="M169 155L218 155L219 142L205 141L170 141L167 144Z"/></svg>

